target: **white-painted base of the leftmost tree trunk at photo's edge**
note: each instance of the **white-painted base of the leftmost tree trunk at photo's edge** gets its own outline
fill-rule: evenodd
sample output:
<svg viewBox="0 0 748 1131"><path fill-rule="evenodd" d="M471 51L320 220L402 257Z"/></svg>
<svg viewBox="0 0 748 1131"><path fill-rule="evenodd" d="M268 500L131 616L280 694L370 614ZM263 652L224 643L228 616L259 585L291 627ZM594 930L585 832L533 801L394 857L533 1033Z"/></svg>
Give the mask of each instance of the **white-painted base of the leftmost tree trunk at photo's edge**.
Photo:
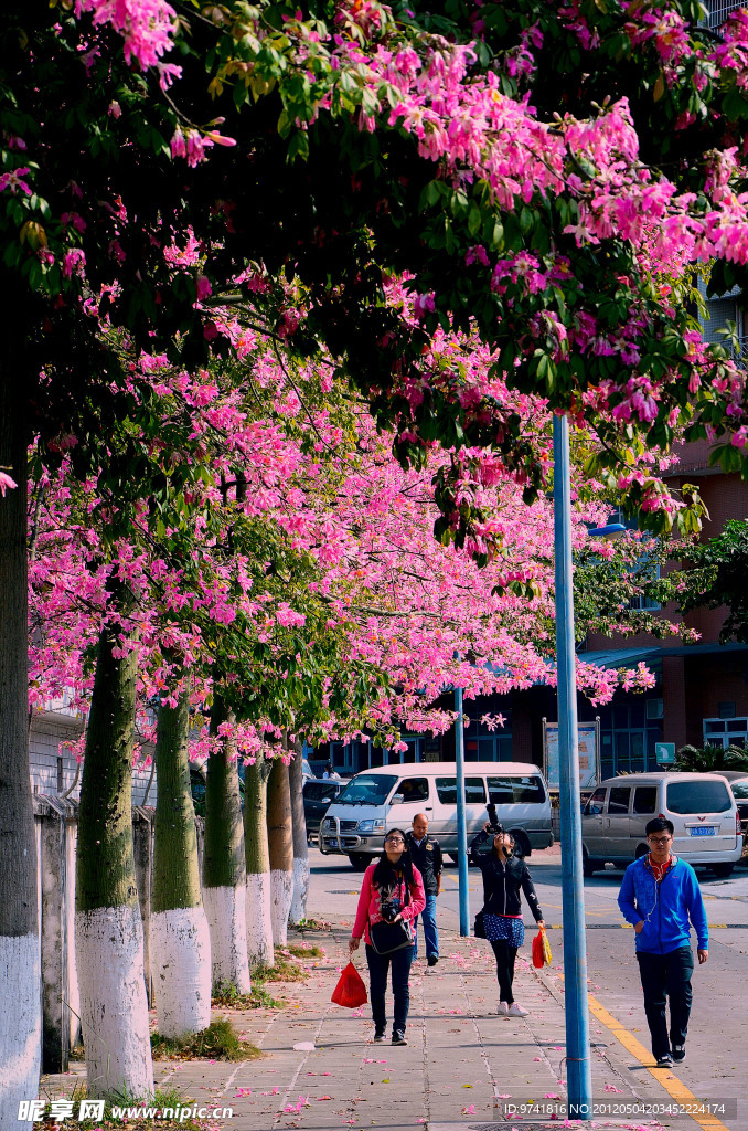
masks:
<svg viewBox="0 0 748 1131"><path fill-rule="evenodd" d="M0 1126L18 1123L21 1099L40 1095L42 1054L41 970L35 934L0 938Z"/></svg>

